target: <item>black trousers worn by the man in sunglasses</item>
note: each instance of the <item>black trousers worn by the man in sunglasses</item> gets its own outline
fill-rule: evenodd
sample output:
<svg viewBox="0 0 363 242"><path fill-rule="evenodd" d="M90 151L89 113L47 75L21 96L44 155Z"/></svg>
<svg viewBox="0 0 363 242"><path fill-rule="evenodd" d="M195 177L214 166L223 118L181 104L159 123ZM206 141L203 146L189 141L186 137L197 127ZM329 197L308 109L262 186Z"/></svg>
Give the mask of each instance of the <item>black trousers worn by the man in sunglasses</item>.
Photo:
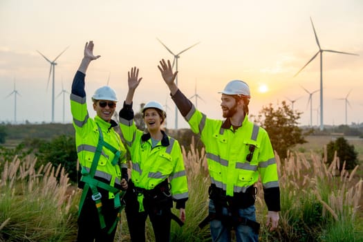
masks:
<svg viewBox="0 0 363 242"><path fill-rule="evenodd" d="M91 195L89 191L78 217L77 242L113 242L117 226L115 226L111 234L107 232L115 222L119 209L114 208L114 202L113 199L109 199L109 193L102 192L102 214L106 227L101 229L100 218Z"/></svg>

